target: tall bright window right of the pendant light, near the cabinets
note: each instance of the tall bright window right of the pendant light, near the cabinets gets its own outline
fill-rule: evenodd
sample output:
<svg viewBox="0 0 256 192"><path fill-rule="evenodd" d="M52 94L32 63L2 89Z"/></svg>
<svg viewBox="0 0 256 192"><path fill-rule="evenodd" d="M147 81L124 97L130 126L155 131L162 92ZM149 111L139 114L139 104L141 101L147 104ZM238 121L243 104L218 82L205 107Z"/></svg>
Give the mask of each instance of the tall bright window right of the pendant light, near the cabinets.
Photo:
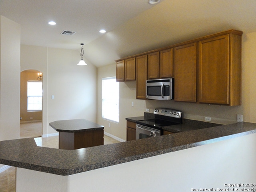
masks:
<svg viewBox="0 0 256 192"><path fill-rule="evenodd" d="M119 122L119 82L102 78L102 118Z"/></svg>

